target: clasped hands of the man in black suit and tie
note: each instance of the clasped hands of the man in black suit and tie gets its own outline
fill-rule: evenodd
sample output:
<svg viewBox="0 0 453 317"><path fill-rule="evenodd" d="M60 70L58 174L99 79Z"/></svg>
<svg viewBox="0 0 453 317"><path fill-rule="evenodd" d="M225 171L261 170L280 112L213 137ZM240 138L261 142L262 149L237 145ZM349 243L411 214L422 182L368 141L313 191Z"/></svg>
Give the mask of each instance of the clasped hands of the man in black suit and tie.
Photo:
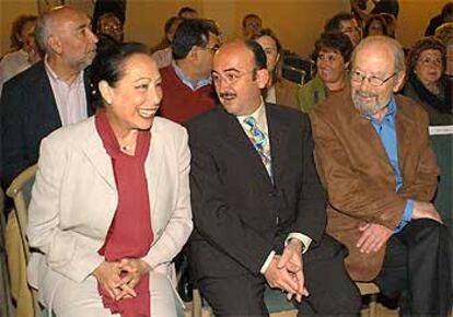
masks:
<svg viewBox="0 0 453 317"><path fill-rule="evenodd" d="M264 275L271 287L287 292L288 301L294 295L298 302L302 301L302 296L309 296L304 285L302 243L291 239L281 256L274 256Z"/></svg>

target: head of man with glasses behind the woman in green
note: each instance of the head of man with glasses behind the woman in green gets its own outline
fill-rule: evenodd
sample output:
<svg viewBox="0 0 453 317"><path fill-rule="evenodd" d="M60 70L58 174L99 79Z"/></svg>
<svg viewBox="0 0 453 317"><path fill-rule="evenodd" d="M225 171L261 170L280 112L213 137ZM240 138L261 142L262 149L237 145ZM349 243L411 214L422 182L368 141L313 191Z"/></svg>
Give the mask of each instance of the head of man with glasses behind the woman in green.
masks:
<svg viewBox="0 0 453 317"><path fill-rule="evenodd" d="M340 12L327 20L324 25L324 32L341 32L346 34L352 46L356 47L362 39L362 28L353 14Z"/></svg>

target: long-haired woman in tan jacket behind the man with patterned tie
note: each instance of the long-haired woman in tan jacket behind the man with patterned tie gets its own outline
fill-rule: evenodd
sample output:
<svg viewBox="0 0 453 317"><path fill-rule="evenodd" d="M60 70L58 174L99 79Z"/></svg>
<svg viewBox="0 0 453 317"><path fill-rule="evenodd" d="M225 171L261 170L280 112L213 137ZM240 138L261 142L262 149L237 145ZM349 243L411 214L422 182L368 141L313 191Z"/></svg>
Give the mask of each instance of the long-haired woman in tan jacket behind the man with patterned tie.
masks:
<svg viewBox="0 0 453 317"><path fill-rule="evenodd" d="M280 40L270 28L263 28L258 35L254 36L254 39L266 54L267 70L269 71L269 81L265 89L266 103L299 109L295 98L298 85L281 75L283 48Z"/></svg>

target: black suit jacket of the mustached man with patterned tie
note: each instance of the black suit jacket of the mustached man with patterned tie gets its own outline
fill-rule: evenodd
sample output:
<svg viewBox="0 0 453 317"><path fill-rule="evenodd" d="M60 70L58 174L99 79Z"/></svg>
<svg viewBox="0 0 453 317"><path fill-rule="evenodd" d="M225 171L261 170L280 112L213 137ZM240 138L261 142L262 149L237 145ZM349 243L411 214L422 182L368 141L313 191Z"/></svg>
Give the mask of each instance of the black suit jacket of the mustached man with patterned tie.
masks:
<svg viewBox="0 0 453 317"><path fill-rule="evenodd" d="M274 185L235 116L217 107L187 124L193 155L195 278L259 274L291 232L321 239L325 193L314 162L309 119L266 105Z"/></svg>

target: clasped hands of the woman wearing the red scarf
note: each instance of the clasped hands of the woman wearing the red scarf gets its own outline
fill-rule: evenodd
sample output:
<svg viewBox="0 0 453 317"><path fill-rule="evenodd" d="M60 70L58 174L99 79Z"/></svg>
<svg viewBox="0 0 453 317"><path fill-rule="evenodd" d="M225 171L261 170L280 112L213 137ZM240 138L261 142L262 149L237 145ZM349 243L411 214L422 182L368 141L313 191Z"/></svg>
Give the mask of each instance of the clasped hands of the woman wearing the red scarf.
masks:
<svg viewBox="0 0 453 317"><path fill-rule="evenodd" d="M94 270L93 275L114 301L119 301L137 296L133 289L150 269L150 266L141 259L125 258L120 261L102 262Z"/></svg>

